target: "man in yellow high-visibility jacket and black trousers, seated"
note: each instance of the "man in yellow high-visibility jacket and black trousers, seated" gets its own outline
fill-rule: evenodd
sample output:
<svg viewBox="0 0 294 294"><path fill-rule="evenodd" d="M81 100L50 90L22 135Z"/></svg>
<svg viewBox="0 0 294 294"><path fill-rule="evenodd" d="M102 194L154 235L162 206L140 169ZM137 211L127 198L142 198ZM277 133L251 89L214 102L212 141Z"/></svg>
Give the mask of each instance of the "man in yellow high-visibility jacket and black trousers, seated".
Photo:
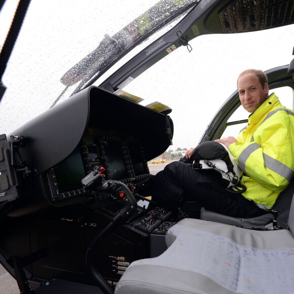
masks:
<svg viewBox="0 0 294 294"><path fill-rule="evenodd" d="M153 199L168 209L189 198L208 210L234 217L254 217L272 208L294 175L294 112L278 97L269 96L268 80L261 70L240 73L237 88L242 106L250 113L237 138L215 141L225 144L243 171L242 194L228 192L222 175L214 170L193 169L172 162L151 178ZM186 152L190 159L194 149Z"/></svg>

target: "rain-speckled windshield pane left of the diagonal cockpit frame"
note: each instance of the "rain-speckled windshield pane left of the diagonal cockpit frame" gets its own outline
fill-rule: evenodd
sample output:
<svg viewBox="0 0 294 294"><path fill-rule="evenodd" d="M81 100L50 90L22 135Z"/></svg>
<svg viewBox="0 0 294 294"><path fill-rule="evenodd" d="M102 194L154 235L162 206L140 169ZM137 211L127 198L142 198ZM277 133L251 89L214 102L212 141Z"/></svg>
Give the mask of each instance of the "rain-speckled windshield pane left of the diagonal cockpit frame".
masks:
<svg viewBox="0 0 294 294"><path fill-rule="evenodd" d="M150 44L149 36L168 30L197 2L31 1L3 76L2 131L78 92L132 48ZM17 5L7 1L1 9L2 45Z"/></svg>

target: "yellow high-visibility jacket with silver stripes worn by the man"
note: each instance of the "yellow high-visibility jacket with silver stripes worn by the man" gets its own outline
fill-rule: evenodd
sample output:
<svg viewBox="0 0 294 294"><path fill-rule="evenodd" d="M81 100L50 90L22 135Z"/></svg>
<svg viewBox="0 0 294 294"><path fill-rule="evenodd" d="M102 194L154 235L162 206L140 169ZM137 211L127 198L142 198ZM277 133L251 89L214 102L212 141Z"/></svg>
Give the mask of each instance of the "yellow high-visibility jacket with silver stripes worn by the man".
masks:
<svg viewBox="0 0 294 294"><path fill-rule="evenodd" d="M251 114L248 125L229 145L246 173L242 194L262 209L271 209L294 176L294 111L285 108L273 93Z"/></svg>

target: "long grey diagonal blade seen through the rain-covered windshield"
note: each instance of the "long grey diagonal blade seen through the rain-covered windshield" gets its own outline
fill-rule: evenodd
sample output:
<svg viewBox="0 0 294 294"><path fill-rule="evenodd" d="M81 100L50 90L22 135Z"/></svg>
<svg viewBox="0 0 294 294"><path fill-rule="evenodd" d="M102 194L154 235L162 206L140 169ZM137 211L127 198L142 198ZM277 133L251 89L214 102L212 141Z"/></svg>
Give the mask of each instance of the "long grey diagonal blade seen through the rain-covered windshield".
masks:
<svg viewBox="0 0 294 294"><path fill-rule="evenodd" d="M161 0L113 36L105 34L99 46L71 67L60 79L66 88L52 106L57 103L68 87L81 81L71 94L73 95L79 92L84 85L89 84L89 81L94 83L138 44L199 2L200 0L183 0L180 3Z"/></svg>

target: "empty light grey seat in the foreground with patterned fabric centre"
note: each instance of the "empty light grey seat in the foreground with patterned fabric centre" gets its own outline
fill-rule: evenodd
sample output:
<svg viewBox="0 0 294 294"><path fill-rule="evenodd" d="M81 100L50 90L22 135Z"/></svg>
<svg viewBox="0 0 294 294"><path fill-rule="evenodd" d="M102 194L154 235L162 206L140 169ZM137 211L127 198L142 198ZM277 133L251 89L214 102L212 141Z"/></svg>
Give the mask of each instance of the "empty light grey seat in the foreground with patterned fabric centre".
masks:
<svg viewBox="0 0 294 294"><path fill-rule="evenodd" d="M160 256L133 262L116 293L290 293L294 239L288 230L255 231L183 219Z"/></svg>

